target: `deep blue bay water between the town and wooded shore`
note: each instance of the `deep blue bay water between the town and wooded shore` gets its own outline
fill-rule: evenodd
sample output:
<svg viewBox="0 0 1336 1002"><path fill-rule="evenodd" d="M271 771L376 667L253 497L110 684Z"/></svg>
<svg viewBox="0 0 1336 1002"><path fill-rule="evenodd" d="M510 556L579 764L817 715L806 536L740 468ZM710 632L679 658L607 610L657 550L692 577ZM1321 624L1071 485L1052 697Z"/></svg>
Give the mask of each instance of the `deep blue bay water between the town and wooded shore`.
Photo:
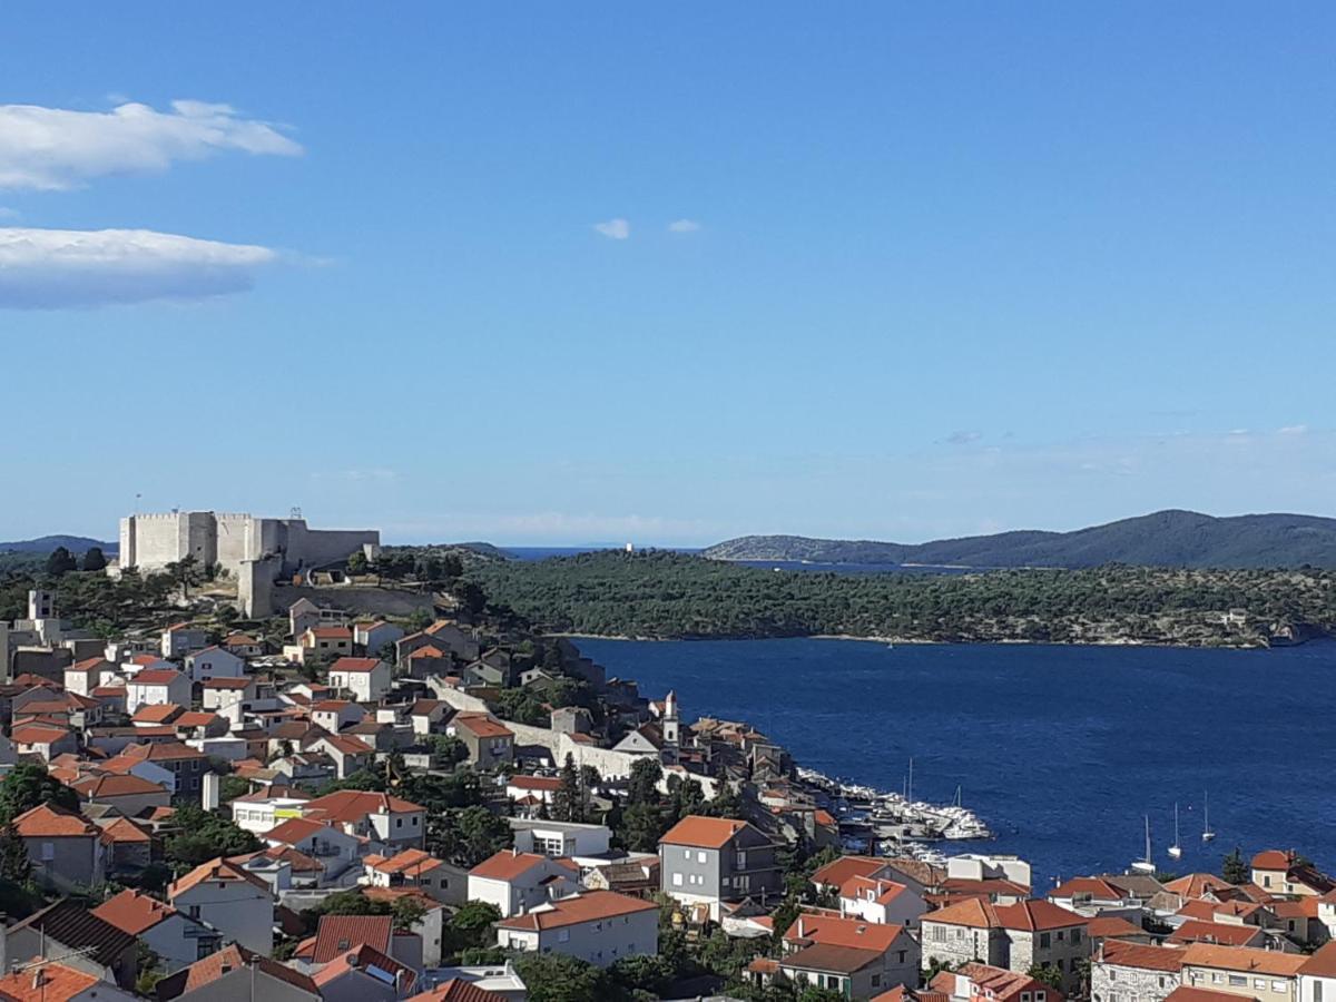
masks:
<svg viewBox="0 0 1336 1002"><path fill-rule="evenodd" d="M741 719L828 775L966 807L986 844L1055 876L1121 872L1150 815L1162 870L1217 871L1236 844L1336 867L1336 643L1275 651L581 640L688 719ZM1213 843L1201 842L1202 791ZM1172 860L1173 806L1184 855Z"/></svg>

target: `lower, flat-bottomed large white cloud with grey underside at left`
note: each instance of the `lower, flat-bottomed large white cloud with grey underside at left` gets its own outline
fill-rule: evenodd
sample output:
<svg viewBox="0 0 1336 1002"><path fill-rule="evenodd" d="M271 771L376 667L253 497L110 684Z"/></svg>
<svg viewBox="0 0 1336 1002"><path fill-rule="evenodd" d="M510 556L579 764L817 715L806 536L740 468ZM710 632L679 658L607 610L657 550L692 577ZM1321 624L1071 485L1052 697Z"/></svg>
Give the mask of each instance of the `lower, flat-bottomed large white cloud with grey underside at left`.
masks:
<svg viewBox="0 0 1336 1002"><path fill-rule="evenodd" d="M0 227L0 307L202 299L250 289L269 247L151 230Z"/></svg>

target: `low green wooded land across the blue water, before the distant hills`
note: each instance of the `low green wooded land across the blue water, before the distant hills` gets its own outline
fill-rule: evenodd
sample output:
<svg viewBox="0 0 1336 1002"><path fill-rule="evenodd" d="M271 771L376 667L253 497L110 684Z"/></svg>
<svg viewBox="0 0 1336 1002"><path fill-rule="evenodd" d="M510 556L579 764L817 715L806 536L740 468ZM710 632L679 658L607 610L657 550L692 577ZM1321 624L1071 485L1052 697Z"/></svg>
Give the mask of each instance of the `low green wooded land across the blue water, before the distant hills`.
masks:
<svg viewBox="0 0 1336 1002"><path fill-rule="evenodd" d="M1101 566L975 574L775 572L667 552L468 572L549 632L637 637L844 635L906 641L1265 644L1336 631L1336 572ZM1224 613L1244 609L1241 625Z"/></svg>

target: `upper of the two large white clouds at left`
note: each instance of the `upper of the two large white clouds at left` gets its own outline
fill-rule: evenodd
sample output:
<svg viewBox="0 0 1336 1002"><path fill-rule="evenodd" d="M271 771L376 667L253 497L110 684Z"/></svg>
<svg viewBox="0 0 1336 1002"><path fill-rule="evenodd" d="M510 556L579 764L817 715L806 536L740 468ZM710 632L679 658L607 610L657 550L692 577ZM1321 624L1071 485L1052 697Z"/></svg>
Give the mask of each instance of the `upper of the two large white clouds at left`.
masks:
<svg viewBox="0 0 1336 1002"><path fill-rule="evenodd" d="M171 111L127 103L111 111L0 104L0 188L57 191L110 174L164 171L224 150L295 156L302 147L227 104L172 102Z"/></svg>

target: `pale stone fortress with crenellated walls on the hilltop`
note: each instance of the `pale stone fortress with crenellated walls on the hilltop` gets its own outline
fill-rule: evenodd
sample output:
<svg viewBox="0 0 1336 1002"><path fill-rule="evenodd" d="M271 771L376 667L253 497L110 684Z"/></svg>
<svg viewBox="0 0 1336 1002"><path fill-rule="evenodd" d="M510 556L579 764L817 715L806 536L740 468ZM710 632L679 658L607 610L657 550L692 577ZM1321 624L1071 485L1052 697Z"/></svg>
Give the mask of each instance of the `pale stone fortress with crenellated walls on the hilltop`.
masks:
<svg viewBox="0 0 1336 1002"><path fill-rule="evenodd" d="M346 560L355 550L374 558L378 529L310 529L305 518L255 518L220 512L131 514L120 520L119 569L140 573L195 557L236 577L247 615L269 615L274 580Z"/></svg>

